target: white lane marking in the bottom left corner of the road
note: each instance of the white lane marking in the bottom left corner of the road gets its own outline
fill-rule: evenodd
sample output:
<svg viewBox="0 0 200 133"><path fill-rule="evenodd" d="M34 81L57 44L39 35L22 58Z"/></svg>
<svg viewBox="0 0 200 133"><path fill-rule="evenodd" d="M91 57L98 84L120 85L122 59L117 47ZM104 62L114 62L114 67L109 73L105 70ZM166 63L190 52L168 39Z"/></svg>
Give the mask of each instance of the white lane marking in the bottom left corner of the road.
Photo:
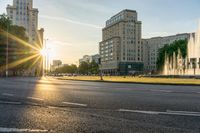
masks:
<svg viewBox="0 0 200 133"><path fill-rule="evenodd" d="M0 127L0 132L10 133L10 132L48 132L48 130L40 130L40 129L18 129L18 128L5 128Z"/></svg>

